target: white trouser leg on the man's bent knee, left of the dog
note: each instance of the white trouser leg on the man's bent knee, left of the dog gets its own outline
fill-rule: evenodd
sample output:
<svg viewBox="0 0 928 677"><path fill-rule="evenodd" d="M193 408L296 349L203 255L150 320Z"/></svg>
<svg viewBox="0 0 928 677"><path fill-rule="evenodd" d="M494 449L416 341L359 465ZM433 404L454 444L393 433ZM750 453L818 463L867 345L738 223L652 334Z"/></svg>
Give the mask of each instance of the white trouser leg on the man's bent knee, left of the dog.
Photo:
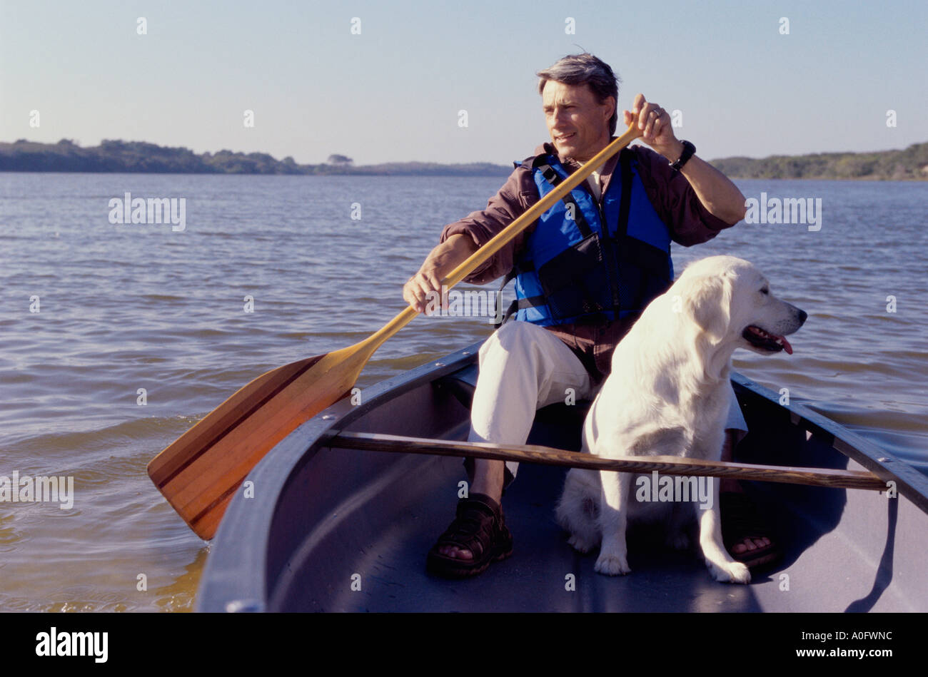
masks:
<svg viewBox="0 0 928 677"><path fill-rule="evenodd" d="M470 408L469 441L524 444L535 410L592 396L586 368L567 345L545 329L514 320L499 327L480 349L480 375ZM515 478L519 464L507 461Z"/></svg>

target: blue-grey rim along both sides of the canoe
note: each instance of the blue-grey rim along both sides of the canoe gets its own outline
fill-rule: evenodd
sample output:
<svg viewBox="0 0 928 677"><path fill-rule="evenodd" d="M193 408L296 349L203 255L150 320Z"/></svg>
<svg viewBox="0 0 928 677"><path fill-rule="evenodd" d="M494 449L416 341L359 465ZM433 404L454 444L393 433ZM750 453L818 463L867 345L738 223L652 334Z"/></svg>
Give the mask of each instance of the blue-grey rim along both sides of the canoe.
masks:
<svg viewBox="0 0 928 677"><path fill-rule="evenodd" d="M319 449L327 447L335 435L354 421L409 390L476 364L482 344L483 340L477 341L437 361L371 385L362 391L362 403L356 406L349 399L336 402L296 428L267 453L247 478L254 482L253 486L261 488L262 499L245 500L242 492L237 492L229 505L203 570L196 610L267 610L275 587L274 581L269 581L267 576L269 538L279 499L288 491L291 479ZM470 376L458 380L466 384L472 381ZM779 393L736 372L731 372L730 377L735 389L748 398L772 402L780 410L787 409L790 422L804 428L807 435L826 441L834 450L881 479L896 481L898 492L928 514L928 478L915 467L800 402L783 407ZM242 543L248 546L242 547Z"/></svg>

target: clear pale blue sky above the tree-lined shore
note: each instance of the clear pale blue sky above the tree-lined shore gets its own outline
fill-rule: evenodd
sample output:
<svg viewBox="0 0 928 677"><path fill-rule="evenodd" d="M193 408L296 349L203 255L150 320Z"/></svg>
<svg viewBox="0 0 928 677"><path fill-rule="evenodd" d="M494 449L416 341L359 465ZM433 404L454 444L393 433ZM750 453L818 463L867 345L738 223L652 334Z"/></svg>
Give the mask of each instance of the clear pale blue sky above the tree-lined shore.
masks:
<svg viewBox="0 0 928 677"><path fill-rule="evenodd" d="M926 36L924 0L0 0L0 140L504 163L547 140L535 70L579 45L705 158L901 148L928 140Z"/></svg>

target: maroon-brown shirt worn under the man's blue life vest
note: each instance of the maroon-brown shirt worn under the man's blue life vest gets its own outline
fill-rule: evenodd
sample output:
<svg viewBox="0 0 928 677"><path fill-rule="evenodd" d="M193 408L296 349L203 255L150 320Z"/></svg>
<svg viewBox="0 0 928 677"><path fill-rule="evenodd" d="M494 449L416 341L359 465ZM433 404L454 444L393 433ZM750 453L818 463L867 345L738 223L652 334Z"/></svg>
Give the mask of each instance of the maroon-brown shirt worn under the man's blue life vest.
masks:
<svg viewBox="0 0 928 677"><path fill-rule="evenodd" d="M638 174L645 192L675 242L690 247L712 239L720 230L733 225L709 213L702 206L686 177L680 173L674 175L663 156L643 146L632 146L631 150L637 155ZM550 144L535 148L535 155L555 152ZM574 172L580 167L574 160L560 160L568 172ZM617 163L616 155L603 166L600 172L600 195L606 193ZM472 211L460 221L445 225L441 241L444 242L452 235L464 234L472 237L478 247L482 247L539 199L538 187L535 185L532 172L518 167L509 174L506 184L490 198L486 209ZM506 247L496 252L492 259L466 277L465 281L483 285L509 273L522 253L526 238L534 229L535 224L532 224L522 231ZM599 382L610 372L612 351L634 324L635 319L635 316L629 315L622 320L600 325L558 325L546 328L554 332L576 353L590 376Z"/></svg>

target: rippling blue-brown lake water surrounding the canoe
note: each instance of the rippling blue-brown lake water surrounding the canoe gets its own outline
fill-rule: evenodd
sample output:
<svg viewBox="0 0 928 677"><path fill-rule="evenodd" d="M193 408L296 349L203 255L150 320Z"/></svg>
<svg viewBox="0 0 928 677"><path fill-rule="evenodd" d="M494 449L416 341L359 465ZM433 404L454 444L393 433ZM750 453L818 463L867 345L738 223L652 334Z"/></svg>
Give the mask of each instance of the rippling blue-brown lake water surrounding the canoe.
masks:
<svg viewBox="0 0 928 677"><path fill-rule="evenodd" d="M792 356L739 351L735 367L928 470L928 184L737 183L748 198L820 198L822 218L675 246L677 272L735 254L809 314ZM75 483L67 510L0 503L0 610L191 609L209 546L148 461L251 378L384 325L442 226L501 184L0 173L0 476ZM110 224L126 192L186 198L186 228ZM359 386L489 332L485 318L419 317Z"/></svg>

